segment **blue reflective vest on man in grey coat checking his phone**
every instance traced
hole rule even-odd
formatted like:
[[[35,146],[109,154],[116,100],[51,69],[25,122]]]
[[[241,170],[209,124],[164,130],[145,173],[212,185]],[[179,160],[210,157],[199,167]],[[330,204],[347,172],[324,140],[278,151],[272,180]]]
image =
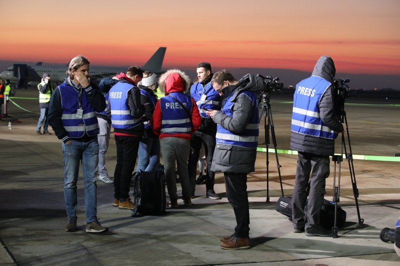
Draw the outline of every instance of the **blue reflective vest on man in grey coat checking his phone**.
[[[224,101],[221,111],[227,116],[233,117],[233,105],[231,101],[234,91]],[[232,146],[240,146],[246,148],[256,148],[258,145],[258,102],[256,95],[251,91],[239,92],[239,95],[247,95],[252,103],[253,109],[251,116],[244,130],[238,134],[232,133],[224,129],[220,125],[216,127],[216,143],[227,144]]]

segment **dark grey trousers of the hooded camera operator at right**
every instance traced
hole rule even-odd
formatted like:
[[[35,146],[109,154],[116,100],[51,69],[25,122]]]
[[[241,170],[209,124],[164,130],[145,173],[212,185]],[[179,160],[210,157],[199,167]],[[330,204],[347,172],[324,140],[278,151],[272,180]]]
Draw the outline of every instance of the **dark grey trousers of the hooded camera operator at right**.
[[[310,178],[311,174],[311,178]],[[329,176],[329,156],[298,153],[296,178],[291,197],[291,215],[294,229],[319,227],[325,194],[325,179]],[[304,214],[306,189],[309,181],[307,213]],[[307,216],[307,223],[304,216]]]

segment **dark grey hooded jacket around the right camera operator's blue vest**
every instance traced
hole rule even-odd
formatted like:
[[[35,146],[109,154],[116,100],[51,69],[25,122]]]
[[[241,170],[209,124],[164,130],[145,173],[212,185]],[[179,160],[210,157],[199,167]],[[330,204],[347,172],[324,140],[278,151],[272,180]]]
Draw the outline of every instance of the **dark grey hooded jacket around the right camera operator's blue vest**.
[[[312,75],[333,83],[335,71],[333,60],[328,56],[321,56],[315,64]],[[319,116],[327,127],[336,132],[343,131],[343,125],[335,108],[332,85],[322,95],[318,108]],[[334,140],[291,132],[290,149],[316,155],[333,155]]]

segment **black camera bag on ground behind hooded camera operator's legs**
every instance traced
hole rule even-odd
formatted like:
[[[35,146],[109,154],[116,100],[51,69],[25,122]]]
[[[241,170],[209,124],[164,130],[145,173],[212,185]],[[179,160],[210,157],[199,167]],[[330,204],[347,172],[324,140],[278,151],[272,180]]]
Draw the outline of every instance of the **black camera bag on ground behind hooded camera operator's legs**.
[[[307,203],[308,199],[305,201],[304,213],[307,213]],[[279,197],[276,202],[275,210],[289,218],[291,221],[291,197]],[[307,222],[307,217],[304,216],[305,223]],[[323,200],[321,208],[321,226],[325,229],[332,229],[334,224],[334,202]],[[337,205],[337,217],[336,225],[338,228],[343,228],[346,222],[346,212]]]

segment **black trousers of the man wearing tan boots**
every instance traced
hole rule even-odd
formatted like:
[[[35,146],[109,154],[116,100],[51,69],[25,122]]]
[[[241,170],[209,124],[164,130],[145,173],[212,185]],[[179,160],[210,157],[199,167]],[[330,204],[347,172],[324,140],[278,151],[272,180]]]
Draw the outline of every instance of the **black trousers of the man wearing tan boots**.
[[[116,165],[114,172],[114,198],[129,198],[129,185],[132,178],[134,164],[140,137],[115,135]]]

